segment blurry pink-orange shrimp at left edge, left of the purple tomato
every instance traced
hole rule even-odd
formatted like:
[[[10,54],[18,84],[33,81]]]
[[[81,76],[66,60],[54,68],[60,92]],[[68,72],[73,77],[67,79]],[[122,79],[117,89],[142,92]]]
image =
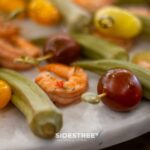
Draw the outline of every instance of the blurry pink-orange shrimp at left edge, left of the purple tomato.
[[[40,54],[38,47],[19,36],[0,38],[0,65],[3,67],[15,70],[29,69],[32,65],[16,63],[14,60],[21,56],[37,57]]]

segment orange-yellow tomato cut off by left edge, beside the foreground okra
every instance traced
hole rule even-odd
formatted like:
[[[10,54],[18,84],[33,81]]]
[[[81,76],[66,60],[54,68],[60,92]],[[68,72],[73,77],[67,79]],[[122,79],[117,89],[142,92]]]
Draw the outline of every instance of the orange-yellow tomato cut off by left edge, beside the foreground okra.
[[[11,99],[11,88],[3,80],[0,80],[0,109],[4,108]]]

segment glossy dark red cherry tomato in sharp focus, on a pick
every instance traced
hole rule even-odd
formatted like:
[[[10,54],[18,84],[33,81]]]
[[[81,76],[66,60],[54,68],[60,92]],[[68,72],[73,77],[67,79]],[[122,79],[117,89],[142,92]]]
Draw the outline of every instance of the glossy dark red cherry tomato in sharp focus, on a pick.
[[[105,93],[102,102],[116,111],[129,111],[137,106],[142,98],[142,88],[137,77],[126,69],[109,70],[101,77],[98,94]]]

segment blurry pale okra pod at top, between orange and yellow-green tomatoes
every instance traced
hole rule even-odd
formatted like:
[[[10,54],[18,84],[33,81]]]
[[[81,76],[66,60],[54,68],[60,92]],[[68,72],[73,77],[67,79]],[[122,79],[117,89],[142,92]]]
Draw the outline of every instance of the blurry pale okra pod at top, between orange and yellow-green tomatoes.
[[[71,0],[50,1],[59,9],[71,31],[83,31],[91,23],[91,15]]]

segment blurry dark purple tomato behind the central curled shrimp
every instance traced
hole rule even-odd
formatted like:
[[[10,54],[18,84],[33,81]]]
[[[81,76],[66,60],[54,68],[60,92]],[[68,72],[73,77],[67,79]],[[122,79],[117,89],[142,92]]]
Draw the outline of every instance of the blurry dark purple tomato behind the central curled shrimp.
[[[52,54],[48,62],[70,64],[80,56],[80,46],[67,34],[49,37],[44,47],[44,54]]]

